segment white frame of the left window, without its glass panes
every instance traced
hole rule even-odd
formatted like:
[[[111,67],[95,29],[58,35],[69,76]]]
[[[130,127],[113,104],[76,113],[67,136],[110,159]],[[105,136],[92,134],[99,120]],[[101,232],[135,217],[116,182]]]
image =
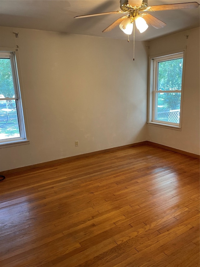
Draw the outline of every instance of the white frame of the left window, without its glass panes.
[[[11,62],[12,79],[13,79],[15,97],[14,98],[6,97],[2,100],[16,100],[17,116],[18,116],[19,131],[20,131],[20,137],[0,140],[0,148],[28,144],[29,143],[28,125],[27,125],[26,112],[24,112],[26,108],[25,108],[25,100],[24,100],[24,95],[23,95],[18,49],[0,47],[0,57],[9,58]]]

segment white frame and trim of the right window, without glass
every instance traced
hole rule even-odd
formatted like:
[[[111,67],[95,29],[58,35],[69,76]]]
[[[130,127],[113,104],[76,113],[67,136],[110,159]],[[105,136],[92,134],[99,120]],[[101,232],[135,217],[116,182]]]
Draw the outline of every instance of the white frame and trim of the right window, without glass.
[[[183,58],[183,73],[182,73],[182,85],[181,90],[175,90],[174,92],[181,93],[181,104],[180,104],[180,120],[179,123],[172,123],[168,121],[158,121],[155,119],[156,115],[156,93],[160,91],[157,90],[157,80],[158,80],[158,63],[162,61],[167,61],[170,59]],[[183,110],[183,88],[184,88],[184,72],[185,72],[185,58],[186,49],[182,51],[175,51],[172,53],[165,53],[159,55],[153,55],[149,57],[149,90],[148,90],[148,124],[158,127],[164,127],[169,129],[181,130],[182,125],[182,110]],[[163,92],[163,91],[162,91]],[[168,92],[168,91],[166,91]],[[172,91],[170,91],[172,92]]]

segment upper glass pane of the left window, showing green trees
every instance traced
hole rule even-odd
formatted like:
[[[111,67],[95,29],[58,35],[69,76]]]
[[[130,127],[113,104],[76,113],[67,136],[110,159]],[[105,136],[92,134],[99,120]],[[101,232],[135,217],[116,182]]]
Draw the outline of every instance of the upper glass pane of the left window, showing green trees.
[[[10,59],[0,59],[0,98],[15,95]]]

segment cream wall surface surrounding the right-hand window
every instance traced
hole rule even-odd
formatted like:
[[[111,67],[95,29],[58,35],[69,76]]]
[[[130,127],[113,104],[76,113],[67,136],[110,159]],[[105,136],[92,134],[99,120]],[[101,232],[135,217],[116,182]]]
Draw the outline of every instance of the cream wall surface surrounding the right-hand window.
[[[199,155],[199,28],[151,41],[149,45],[150,55],[170,53],[186,46],[187,52],[182,131],[148,125],[148,141]]]

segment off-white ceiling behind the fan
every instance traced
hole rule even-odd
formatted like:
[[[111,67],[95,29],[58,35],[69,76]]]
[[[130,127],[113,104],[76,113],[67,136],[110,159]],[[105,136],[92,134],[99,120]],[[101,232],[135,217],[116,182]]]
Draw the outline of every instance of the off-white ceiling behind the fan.
[[[148,6],[188,2],[200,3],[200,0],[148,0]],[[118,26],[110,32],[102,33],[103,29],[124,14],[74,18],[78,15],[117,10],[120,10],[119,0],[0,0],[0,26],[127,39],[127,35]],[[199,7],[148,13],[167,25],[161,29],[149,26],[144,33],[139,33],[136,29],[135,39],[138,41],[199,27]],[[129,39],[133,40],[133,34]]]

